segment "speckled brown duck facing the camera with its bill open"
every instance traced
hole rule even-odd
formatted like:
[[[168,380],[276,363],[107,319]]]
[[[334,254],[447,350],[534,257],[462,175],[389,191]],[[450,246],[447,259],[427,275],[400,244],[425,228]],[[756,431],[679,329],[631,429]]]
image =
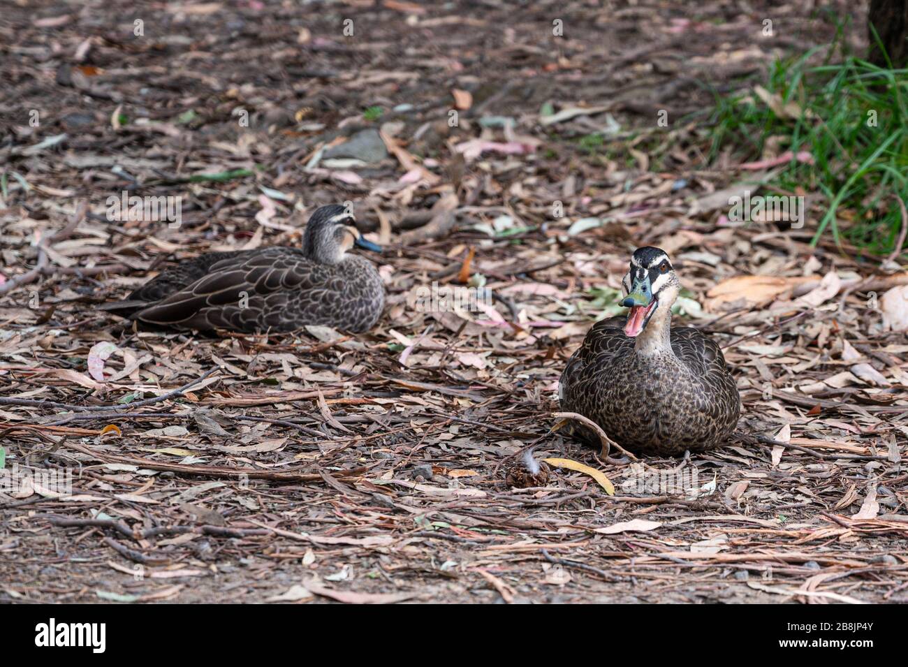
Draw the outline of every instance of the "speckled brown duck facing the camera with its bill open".
[[[622,284],[627,321],[603,320],[587,332],[561,374],[561,409],[640,455],[721,444],[735,430],[741,398],[719,346],[697,329],[671,328],[680,284],[666,252],[636,250]],[[574,432],[598,443],[587,427]]]

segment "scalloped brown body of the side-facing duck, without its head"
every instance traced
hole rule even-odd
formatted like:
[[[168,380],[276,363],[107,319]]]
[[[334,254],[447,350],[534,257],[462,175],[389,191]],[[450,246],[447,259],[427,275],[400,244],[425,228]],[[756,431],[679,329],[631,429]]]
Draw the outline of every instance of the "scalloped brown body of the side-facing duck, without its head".
[[[374,272],[361,258],[319,264],[295,248],[231,255],[133,317],[176,329],[289,331],[320,324],[360,331],[374,324],[383,305],[380,280],[362,280],[369,278],[360,275],[362,262]]]

